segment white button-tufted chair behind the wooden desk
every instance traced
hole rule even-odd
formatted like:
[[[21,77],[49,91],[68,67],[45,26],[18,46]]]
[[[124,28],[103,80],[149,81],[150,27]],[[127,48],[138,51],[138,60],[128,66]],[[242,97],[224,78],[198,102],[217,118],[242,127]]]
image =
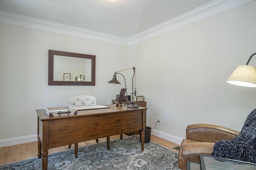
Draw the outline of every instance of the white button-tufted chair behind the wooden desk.
[[[96,98],[94,96],[89,95],[78,95],[78,96],[72,96],[68,99],[68,106],[92,106],[97,105]],[[99,140],[96,139],[96,142],[98,143]],[[71,145],[68,145],[68,148],[70,148]]]

